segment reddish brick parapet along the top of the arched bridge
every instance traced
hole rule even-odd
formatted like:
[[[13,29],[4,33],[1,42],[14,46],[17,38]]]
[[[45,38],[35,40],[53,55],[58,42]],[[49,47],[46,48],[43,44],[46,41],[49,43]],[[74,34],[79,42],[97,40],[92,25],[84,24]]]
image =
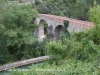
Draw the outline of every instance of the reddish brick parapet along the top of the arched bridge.
[[[40,16],[46,16],[49,19],[56,20],[57,22],[60,22],[60,23],[63,23],[64,20],[68,20],[70,24],[82,27],[84,29],[91,29],[95,26],[92,22],[71,19],[67,17],[55,16],[55,15],[50,15],[50,14],[40,14]]]

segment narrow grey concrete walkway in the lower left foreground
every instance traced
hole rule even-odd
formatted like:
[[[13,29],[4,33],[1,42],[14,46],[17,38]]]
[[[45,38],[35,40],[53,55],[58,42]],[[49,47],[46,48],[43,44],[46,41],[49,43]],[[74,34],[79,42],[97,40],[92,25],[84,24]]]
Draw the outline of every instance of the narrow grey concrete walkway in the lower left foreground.
[[[49,58],[50,58],[49,56],[41,56],[41,57],[37,57],[37,58],[31,58],[31,59],[27,59],[27,60],[14,62],[11,64],[2,65],[2,66],[0,66],[0,71],[6,71],[10,68],[41,62],[41,61],[47,60]]]

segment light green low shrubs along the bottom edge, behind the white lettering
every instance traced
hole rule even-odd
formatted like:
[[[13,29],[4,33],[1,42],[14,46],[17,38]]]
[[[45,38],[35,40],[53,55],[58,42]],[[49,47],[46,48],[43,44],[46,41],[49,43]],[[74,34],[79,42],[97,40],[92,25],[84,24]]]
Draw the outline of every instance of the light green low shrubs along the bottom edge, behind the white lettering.
[[[8,75],[99,75],[99,67],[99,65],[95,66],[95,62],[86,63],[69,59],[63,61],[60,66],[42,63],[30,66],[26,69],[29,71],[15,71]]]

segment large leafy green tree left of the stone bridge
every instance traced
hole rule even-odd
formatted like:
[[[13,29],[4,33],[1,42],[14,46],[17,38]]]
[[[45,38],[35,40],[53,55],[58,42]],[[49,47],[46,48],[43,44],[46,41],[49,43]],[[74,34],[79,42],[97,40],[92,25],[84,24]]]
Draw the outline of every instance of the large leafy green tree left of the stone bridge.
[[[6,12],[0,14],[0,34],[3,35],[0,46],[4,57],[6,61],[29,58],[28,45],[34,43],[33,31],[38,26],[34,18],[38,12],[30,5],[8,5],[5,9]]]

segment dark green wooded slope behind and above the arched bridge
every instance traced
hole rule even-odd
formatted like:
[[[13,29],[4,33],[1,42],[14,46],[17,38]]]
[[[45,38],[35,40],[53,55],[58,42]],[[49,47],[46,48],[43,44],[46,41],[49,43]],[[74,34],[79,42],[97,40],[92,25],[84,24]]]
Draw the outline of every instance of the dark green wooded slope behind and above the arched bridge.
[[[45,0],[44,3],[36,0],[36,8],[39,13],[54,14],[76,18],[80,20],[89,20],[89,9],[94,5],[94,0]],[[100,3],[100,0],[95,0]]]

